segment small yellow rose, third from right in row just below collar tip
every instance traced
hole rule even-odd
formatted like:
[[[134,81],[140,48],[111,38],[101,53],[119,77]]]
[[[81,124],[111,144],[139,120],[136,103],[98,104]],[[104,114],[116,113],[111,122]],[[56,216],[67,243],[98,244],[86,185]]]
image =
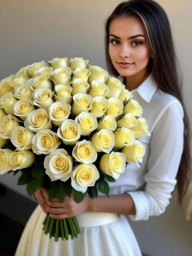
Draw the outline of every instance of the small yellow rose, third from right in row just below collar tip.
[[[93,98],[93,106],[90,112],[96,117],[102,117],[108,108],[108,100],[104,96],[96,96]]]

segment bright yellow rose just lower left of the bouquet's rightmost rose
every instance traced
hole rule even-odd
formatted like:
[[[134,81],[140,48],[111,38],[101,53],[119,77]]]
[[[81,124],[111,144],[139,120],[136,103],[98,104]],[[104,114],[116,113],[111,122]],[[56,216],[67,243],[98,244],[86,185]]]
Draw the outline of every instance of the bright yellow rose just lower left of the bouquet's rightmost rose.
[[[135,141],[134,133],[125,127],[114,131],[115,135],[115,147],[121,148],[123,146],[131,146]]]

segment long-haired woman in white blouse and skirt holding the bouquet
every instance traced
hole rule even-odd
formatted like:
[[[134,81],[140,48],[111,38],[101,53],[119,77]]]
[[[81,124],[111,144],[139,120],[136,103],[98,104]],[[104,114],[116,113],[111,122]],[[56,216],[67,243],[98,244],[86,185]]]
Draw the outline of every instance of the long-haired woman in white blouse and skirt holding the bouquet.
[[[129,163],[110,185],[110,197],[88,196],[81,203],[66,197],[48,201],[43,188],[16,251],[21,255],[141,255],[125,217],[147,220],[160,215],[169,204],[177,183],[179,202],[189,179],[189,126],[176,71],[168,18],[152,0],[119,4],[106,21],[106,59],[143,108],[151,136],[139,139],[146,153],[140,168]],[[114,95],[115,96],[115,95]],[[42,209],[43,211],[42,211]],[[73,240],[54,242],[42,232],[45,213],[56,219],[77,216],[81,234]],[[99,213],[100,212],[100,213]]]

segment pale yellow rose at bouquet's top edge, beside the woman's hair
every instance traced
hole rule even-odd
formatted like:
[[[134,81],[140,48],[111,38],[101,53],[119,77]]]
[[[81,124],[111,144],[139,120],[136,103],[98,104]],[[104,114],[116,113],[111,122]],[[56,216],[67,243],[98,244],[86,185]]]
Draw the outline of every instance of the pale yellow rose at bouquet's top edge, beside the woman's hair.
[[[91,75],[89,76],[89,82],[98,81],[105,83],[108,79],[108,72],[101,67],[90,65],[89,70]]]

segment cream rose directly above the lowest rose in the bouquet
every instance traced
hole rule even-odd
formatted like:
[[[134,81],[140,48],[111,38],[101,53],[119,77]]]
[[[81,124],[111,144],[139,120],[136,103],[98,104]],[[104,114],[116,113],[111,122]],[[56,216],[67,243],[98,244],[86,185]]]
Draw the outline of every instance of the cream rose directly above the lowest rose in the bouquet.
[[[93,163],[97,159],[97,153],[93,143],[85,139],[76,143],[73,148],[72,156],[75,161],[86,164]]]

